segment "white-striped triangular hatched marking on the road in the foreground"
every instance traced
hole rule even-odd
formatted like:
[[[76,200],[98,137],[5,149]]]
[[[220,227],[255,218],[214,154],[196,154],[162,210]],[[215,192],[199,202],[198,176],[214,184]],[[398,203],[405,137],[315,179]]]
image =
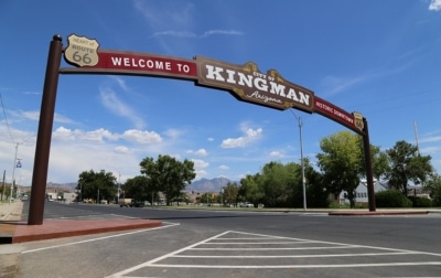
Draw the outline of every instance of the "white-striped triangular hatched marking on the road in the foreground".
[[[259,244],[267,247],[249,247]],[[293,245],[295,247],[290,246],[281,248],[281,244]],[[232,245],[236,246],[230,247]],[[272,245],[272,247],[269,245]],[[223,254],[223,252],[229,250],[234,250],[235,254]],[[353,253],[345,250],[353,250]],[[292,252],[292,254],[287,254],[287,252]],[[421,258],[419,258],[421,261],[415,261],[415,255],[421,256]],[[388,256],[388,259],[392,261],[384,263],[380,259],[381,256]],[[406,256],[409,256],[409,258]],[[439,259],[441,254],[227,231],[152,260],[121,270],[107,278],[130,277],[126,275],[150,267],[185,269],[283,269],[441,266],[441,259],[437,260],[427,258],[426,256]],[[363,259],[363,257],[370,257],[372,259],[378,257],[378,259],[373,263],[361,263],[359,259]],[[305,258],[310,259],[308,260],[310,264],[304,264]],[[333,258],[331,261],[335,263],[320,264],[325,263],[320,260],[323,258]],[[338,258],[341,258],[341,260],[336,261]],[[187,264],[185,264],[185,261],[187,261]],[[261,264],[262,261],[265,261],[265,264]],[[271,264],[271,261],[273,261],[273,264]],[[299,264],[295,264],[297,261]]]

